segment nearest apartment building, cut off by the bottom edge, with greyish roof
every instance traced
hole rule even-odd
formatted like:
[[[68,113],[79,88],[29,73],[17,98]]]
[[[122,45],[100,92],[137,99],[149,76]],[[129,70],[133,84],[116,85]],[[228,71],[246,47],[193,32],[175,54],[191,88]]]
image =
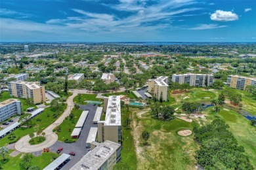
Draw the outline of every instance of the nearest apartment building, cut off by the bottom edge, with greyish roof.
[[[114,165],[121,160],[121,144],[112,141],[96,143],[95,148],[83,156],[71,170],[112,170]]]

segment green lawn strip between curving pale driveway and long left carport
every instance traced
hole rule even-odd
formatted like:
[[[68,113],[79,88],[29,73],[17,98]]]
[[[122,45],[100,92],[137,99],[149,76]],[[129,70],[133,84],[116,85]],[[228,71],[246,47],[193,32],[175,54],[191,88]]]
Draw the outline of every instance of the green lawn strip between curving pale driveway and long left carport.
[[[64,109],[66,109],[66,105],[60,105],[60,114],[62,114]],[[48,127],[50,124],[52,124],[58,118],[58,117],[57,118],[53,117],[54,112],[55,111],[52,110],[50,107],[45,108],[45,110],[41,114],[32,118],[33,126],[31,126],[29,128],[18,127],[18,129],[12,131],[12,133],[14,133],[17,136],[16,139],[14,139],[13,141],[10,141],[8,139],[9,135],[7,135],[7,136],[3,137],[2,139],[0,139],[0,146],[5,146],[6,144],[9,144],[10,142],[17,141],[18,138],[28,135],[30,132],[35,132],[36,129],[45,129],[46,127]],[[60,116],[60,114],[58,116]],[[37,119],[41,120],[41,121],[37,121]]]

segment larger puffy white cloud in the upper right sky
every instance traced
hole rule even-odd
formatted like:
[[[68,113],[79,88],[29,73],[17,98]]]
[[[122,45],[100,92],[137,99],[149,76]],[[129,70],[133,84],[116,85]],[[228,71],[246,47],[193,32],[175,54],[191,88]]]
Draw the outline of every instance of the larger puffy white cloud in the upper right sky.
[[[234,21],[238,20],[238,15],[231,11],[216,10],[211,14],[211,20],[220,22]]]

